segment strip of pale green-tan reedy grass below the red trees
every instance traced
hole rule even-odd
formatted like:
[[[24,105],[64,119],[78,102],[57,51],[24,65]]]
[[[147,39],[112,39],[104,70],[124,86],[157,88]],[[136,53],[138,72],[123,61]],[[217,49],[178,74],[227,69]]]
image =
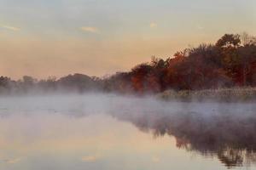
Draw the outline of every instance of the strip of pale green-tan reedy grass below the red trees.
[[[256,101],[256,88],[220,88],[206,90],[166,90],[157,95],[159,99],[181,101],[224,101],[247,102]]]

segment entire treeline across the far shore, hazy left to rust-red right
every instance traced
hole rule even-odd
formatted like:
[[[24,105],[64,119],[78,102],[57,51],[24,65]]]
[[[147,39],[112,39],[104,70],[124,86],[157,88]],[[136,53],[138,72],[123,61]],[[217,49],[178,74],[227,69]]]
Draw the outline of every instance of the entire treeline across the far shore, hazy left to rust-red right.
[[[1,94],[52,92],[159,93],[166,89],[201,90],[209,88],[256,86],[256,37],[247,33],[225,34],[215,44],[186,48],[168,59],[152,57],[148,63],[111,77],[82,74],[37,80],[23,77],[14,81],[0,77]]]

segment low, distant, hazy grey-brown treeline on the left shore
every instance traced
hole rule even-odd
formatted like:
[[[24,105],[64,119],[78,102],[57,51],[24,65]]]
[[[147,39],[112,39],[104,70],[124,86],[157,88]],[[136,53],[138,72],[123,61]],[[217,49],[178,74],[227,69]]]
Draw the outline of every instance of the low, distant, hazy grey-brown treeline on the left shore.
[[[68,75],[56,79],[37,80],[25,76],[14,81],[9,77],[0,77],[0,94],[51,94],[51,93],[85,93],[102,89],[100,79],[83,74]]]

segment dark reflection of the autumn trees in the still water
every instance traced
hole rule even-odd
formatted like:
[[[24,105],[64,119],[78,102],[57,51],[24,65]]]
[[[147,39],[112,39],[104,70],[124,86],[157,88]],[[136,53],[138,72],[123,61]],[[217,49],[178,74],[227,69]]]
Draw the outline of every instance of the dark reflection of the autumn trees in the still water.
[[[202,156],[216,156],[226,167],[256,162],[256,114],[246,113],[113,113],[154,137],[175,137],[177,147]]]

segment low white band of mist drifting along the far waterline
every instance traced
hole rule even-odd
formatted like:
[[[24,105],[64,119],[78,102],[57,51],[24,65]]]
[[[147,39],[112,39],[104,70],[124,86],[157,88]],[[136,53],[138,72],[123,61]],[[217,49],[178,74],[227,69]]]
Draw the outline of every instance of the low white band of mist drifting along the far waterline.
[[[219,103],[218,101],[164,101],[154,95],[119,94],[44,94],[0,97],[0,110],[3,113],[33,113],[42,111],[71,115],[198,112],[203,115],[232,113],[246,116],[256,111],[254,103]]]

